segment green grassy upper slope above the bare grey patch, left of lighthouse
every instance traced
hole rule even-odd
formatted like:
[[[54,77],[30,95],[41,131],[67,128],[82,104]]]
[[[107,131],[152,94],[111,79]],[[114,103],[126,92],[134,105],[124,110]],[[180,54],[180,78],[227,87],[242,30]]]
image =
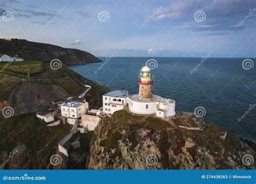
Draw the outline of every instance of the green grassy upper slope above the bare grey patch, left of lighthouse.
[[[0,70],[5,65],[6,62],[0,63]],[[30,80],[28,80],[28,65],[30,67]],[[45,72],[48,72],[49,74],[46,77],[41,77],[41,75],[43,75]],[[4,69],[3,73],[8,74],[8,76],[1,76],[0,73],[0,101],[8,100],[12,89],[22,83],[54,84],[57,86],[61,86],[68,92],[70,96],[78,95],[81,93],[80,84],[74,81],[71,77],[75,77],[82,83],[92,86],[92,89],[86,95],[87,101],[95,99],[96,96],[101,96],[109,91],[109,89],[107,89],[106,87],[101,86],[91,80],[85,79],[84,77],[80,76],[79,74],[65,66],[62,66],[62,68],[58,70],[52,70],[49,67],[48,62],[12,62],[10,63],[10,66]],[[11,75],[15,76],[16,78],[11,77]],[[33,76],[37,76],[37,79],[33,79]],[[99,104],[98,101],[96,103]]]

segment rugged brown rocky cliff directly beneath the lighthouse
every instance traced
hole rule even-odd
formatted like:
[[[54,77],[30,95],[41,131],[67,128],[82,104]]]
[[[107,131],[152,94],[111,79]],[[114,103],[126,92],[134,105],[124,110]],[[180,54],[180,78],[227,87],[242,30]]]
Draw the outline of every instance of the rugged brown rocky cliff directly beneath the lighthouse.
[[[155,117],[125,110],[104,118],[92,140],[91,169],[255,169],[243,163],[255,158],[247,144],[207,123],[204,131],[174,128]]]

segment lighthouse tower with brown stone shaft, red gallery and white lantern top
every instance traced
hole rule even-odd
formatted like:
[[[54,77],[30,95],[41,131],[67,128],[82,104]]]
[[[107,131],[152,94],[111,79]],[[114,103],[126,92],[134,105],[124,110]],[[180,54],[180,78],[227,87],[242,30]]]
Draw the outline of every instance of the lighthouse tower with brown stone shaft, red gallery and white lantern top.
[[[150,68],[143,66],[139,73],[139,98],[151,98],[152,97],[152,84]]]

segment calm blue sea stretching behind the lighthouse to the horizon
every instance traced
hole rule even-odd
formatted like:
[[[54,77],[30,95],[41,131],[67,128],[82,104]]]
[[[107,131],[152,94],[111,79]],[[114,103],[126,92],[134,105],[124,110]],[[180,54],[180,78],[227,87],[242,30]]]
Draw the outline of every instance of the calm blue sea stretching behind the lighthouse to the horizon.
[[[149,59],[114,57],[101,69],[103,62],[70,68],[110,90],[122,88],[134,94],[139,89],[139,70]],[[177,110],[193,112],[204,107],[206,120],[256,142],[256,107],[243,116],[250,105],[256,104],[256,67],[243,69],[245,58],[208,58],[205,62],[201,58],[153,59],[158,64],[151,70],[154,94],[175,100]],[[191,72],[200,62],[202,65]]]

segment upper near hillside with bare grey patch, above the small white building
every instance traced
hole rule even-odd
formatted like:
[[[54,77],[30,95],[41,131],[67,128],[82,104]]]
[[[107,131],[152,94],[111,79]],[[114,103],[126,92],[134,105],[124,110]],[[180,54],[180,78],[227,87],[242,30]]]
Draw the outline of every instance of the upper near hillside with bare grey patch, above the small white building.
[[[5,65],[0,63],[0,70],[5,68],[0,72],[0,101],[7,101],[15,115],[37,112],[52,101],[80,95],[85,90],[85,84],[92,87],[86,94],[86,101],[90,103],[90,108],[98,109],[102,105],[102,95],[109,91],[65,66],[53,70],[49,62],[39,61]]]

